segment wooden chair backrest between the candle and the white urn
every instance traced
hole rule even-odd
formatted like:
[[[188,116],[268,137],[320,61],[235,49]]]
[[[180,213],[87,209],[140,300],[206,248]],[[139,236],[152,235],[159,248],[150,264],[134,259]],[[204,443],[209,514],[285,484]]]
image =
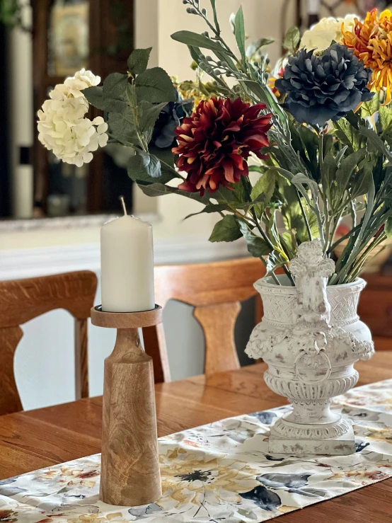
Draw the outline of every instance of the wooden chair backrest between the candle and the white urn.
[[[155,267],[156,303],[165,306],[175,299],[195,307],[193,314],[204,331],[207,376],[239,367],[234,327],[240,301],[257,294],[253,283],[264,275],[265,267],[256,258]],[[163,327],[144,328],[143,338],[154,361],[155,381],[170,381]]]

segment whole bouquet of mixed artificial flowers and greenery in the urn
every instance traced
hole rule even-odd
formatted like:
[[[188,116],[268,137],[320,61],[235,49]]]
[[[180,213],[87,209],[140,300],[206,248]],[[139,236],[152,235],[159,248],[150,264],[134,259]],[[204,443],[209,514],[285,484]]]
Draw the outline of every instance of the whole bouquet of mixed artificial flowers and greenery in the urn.
[[[200,0],[183,4],[207,30],[172,38],[188,45],[208,88],[173,84],[148,69],[151,49],[135,50],[102,86],[88,71],[56,86],[39,113],[40,141],[77,165],[107,141],[132,148],[129,176],[146,195],[182,195],[220,214],[210,241],[245,238],[277,285],[278,268],[294,285],[289,262],[314,238],[325,258],[345,245],[329,285],[352,282],[392,235],[391,11],[325,19],[302,40],[292,28],[274,78],[268,41],[246,47],[242,8],[231,17],[233,50],[215,0],[210,13]],[[200,95],[193,110],[181,91]],[[89,104],[105,122],[88,120]],[[350,226],[337,238],[343,218]]]

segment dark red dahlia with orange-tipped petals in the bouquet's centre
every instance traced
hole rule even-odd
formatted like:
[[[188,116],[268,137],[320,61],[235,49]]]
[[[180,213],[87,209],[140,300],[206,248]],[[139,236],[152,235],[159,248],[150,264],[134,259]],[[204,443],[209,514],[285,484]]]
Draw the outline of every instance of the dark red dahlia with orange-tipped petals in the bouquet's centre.
[[[241,98],[202,100],[175,130],[178,147],[172,151],[180,156],[180,171],[188,173],[178,188],[203,195],[206,189],[230,188],[229,183],[248,176],[250,153],[265,158],[260,149],[268,145],[266,133],[272,125],[271,114],[260,115],[265,107],[264,103],[243,103]]]

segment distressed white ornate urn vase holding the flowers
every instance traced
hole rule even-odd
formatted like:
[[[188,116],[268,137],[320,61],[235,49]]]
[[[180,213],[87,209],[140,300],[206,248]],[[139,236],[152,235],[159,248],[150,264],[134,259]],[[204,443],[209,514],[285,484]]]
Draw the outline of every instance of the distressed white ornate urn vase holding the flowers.
[[[255,282],[264,316],[246,347],[250,357],[268,364],[270,389],[292,403],[292,411],[272,426],[269,452],[352,454],[352,423],[330,403],[357,384],[353,364],[374,352],[369,328],[357,316],[366,283],[359,278],[327,287],[335,264],[323,257],[318,240],[299,246],[290,269],[295,287],[286,276],[279,276],[280,286],[270,278]]]

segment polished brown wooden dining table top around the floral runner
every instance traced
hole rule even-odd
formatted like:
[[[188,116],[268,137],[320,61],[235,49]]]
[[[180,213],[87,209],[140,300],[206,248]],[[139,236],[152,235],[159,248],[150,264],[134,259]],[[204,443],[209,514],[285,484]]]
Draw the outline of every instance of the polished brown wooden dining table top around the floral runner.
[[[359,385],[392,378],[392,350],[358,362]],[[287,403],[264,363],[156,385],[158,436]],[[102,398],[0,416],[0,480],[100,452]],[[392,478],[279,517],[279,523],[392,522]]]

